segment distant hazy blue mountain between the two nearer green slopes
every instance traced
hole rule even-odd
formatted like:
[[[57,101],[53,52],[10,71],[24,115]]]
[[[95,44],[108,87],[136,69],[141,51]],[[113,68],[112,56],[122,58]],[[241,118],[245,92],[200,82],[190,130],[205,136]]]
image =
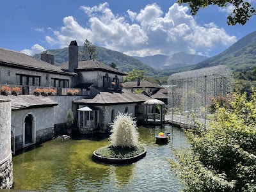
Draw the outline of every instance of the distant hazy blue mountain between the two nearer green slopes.
[[[134,56],[133,58],[142,61],[150,67],[154,67],[159,70],[165,70],[184,68],[190,65],[195,65],[196,63],[200,63],[201,61],[204,61],[209,57],[196,54],[186,54],[185,52],[178,52],[171,56],[157,54],[154,56],[145,57]]]

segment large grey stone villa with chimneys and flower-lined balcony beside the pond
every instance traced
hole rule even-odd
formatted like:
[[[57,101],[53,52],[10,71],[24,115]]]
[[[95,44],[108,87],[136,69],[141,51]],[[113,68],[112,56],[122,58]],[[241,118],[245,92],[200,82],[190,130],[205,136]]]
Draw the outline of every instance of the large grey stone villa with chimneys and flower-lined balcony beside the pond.
[[[148,97],[123,90],[123,72],[95,60],[79,61],[76,41],[68,50],[68,63],[56,66],[49,51],[38,60],[0,49],[0,88],[20,88],[18,96],[3,90],[0,95],[2,100],[12,100],[13,150],[65,133],[68,109],[81,133],[108,132],[118,112],[140,120],[140,105]],[[34,95],[38,89],[48,97]]]

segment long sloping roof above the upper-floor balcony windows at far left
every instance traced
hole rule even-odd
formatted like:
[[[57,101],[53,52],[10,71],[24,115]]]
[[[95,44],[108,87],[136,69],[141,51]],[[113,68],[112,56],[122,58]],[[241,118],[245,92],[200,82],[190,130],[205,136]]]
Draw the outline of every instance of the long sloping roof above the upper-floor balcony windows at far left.
[[[60,69],[60,67],[57,67],[56,65],[52,65],[42,60],[38,60],[36,58],[28,56],[27,54],[0,48],[0,65],[4,64],[13,67],[22,67],[41,71],[43,70],[45,72],[54,72],[67,75],[75,74],[70,72],[64,72]]]

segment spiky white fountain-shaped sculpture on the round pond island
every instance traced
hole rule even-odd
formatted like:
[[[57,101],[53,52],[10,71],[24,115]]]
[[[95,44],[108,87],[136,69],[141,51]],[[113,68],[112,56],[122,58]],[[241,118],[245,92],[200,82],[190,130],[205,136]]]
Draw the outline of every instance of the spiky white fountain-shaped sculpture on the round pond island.
[[[111,146],[132,148],[139,145],[138,128],[131,115],[119,113],[110,127],[112,128],[109,137]]]

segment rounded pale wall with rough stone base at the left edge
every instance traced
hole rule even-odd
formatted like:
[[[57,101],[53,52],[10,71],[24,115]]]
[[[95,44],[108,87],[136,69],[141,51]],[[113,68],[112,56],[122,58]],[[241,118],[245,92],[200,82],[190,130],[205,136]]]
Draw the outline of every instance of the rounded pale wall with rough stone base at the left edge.
[[[13,184],[11,150],[11,102],[0,100],[0,189]]]

